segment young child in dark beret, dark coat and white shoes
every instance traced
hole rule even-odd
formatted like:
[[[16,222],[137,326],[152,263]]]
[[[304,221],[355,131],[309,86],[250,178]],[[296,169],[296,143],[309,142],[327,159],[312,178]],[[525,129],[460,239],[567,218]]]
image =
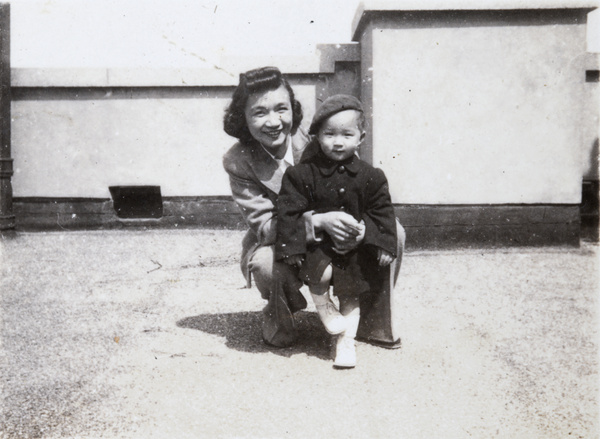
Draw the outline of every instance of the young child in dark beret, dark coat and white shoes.
[[[310,126],[312,142],[319,148],[310,157],[287,169],[277,200],[275,257],[300,267],[300,278],[309,286],[319,318],[336,340],[334,367],[356,365],[354,338],[360,321],[360,296],[379,291],[396,257],[396,217],[387,180],[357,156],[365,138],[365,118],[353,96],[328,98]],[[323,233],[307,246],[303,214],[344,212],[344,233],[355,243]],[[340,311],[329,297],[329,286],[340,302]]]

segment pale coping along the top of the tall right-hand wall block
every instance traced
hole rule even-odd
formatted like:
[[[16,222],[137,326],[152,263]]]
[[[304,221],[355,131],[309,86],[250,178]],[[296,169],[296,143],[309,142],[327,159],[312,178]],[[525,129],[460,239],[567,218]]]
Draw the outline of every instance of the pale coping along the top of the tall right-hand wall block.
[[[504,11],[542,9],[589,9],[600,6],[599,0],[363,0],[352,20],[352,40],[358,41],[363,21],[373,12],[417,11]]]

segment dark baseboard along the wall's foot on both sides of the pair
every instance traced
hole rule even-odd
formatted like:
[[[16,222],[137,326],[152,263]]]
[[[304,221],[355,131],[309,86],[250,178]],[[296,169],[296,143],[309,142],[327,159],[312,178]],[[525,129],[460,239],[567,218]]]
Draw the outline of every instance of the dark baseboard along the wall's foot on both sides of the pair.
[[[246,226],[231,197],[163,197],[163,216],[120,219],[105,198],[14,198],[16,229],[224,228]],[[407,249],[577,246],[580,206],[396,205]]]

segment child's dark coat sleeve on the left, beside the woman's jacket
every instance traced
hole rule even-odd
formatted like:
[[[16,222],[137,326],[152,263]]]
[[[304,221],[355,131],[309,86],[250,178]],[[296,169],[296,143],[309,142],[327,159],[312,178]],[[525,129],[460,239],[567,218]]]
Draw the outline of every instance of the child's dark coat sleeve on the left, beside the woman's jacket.
[[[299,167],[288,168],[277,199],[277,242],[275,259],[306,253],[306,213],[309,195]]]

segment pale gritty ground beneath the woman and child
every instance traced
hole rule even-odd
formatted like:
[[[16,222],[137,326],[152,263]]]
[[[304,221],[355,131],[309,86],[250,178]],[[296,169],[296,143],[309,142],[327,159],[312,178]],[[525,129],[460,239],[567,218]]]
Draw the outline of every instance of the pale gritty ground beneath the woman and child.
[[[314,308],[261,342],[241,237],[0,241],[0,437],[599,437],[596,244],[409,253],[402,348],[339,371]]]

